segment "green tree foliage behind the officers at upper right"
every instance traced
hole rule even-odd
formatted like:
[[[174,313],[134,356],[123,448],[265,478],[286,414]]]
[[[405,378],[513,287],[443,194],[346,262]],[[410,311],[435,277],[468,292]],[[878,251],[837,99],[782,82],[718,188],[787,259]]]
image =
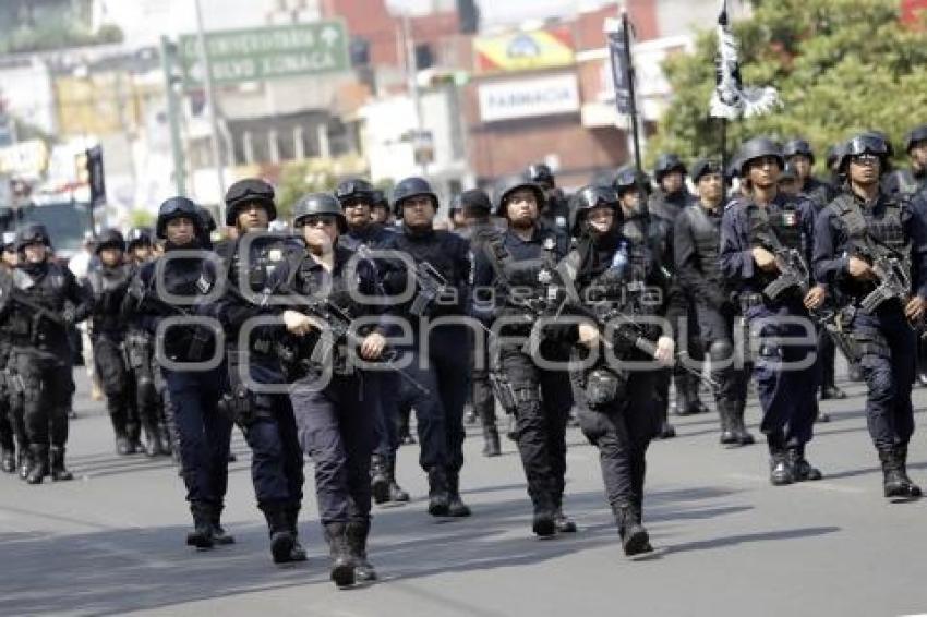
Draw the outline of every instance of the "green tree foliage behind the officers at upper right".
[[[746,85],[772,85],[783,106],[727,124],[729,156],[744,140],[803,136],[823,154],[856,132],[880,130],[898,147],[913,125],[927,122],[925,34],[899,21],[890,0],[754,0],[750,19],[733,24]],[[922,14],[922,16],[924,16]],[[713,24],[712,24],[713,25]],[[707,24],[708,27],[712,25]],[[648,147],[681,156],[719,156],[721,123],[708,118],[714,88],[713,27],[693,55],[664,63],[674,99]],[[823,156],[818,156],[818,166]]]

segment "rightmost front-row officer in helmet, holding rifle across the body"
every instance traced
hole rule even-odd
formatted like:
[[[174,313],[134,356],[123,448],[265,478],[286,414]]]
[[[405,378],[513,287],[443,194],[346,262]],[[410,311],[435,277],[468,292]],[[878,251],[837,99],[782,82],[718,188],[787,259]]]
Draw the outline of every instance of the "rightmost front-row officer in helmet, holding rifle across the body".
[[[888,167],[889,148],[881,137],[862,134],[846,143],[839,162],[844,191],[817,221],[815,270],[847,302],[841,325],[850,331],[850,351],[868,387],[866,415],[884,495],[916,498],[920,487],[906,470],[916,353],[908,322],[922,318],[927,302],[927,229],[923,211],[882,191]],[[883,277],[892,274],[910,289],[880,293],[888,282]]]

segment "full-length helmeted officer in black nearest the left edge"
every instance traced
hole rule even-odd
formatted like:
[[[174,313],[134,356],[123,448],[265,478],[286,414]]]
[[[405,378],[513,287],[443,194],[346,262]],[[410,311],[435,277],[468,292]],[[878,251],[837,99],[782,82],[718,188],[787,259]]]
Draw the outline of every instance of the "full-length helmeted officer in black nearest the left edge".
[[[68,327],[89,315],[89,292],[51,257],[41,225],[16,234],[19,263],[0,297],[0,324],[12,335],[12,353],[22,379],[24,422],[29,440],[26,482],[71,480],[64,468],[68,407],[74,383]]]

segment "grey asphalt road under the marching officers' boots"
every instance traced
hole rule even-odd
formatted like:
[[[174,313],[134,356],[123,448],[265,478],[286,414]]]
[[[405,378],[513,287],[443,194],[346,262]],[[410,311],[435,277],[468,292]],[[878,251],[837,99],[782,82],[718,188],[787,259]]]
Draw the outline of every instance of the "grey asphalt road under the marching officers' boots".
[[[469,427],[465,499],[474,516],[425,513],[417,446],[399,453],[404,507],[376,508],[370,546],[382,580],[338,591],[314,498],[301,517],[305,564],[270,561],[250,455],[233,449],[226,528],[238,543],[195,553],[183,487],[166,459],[113,453],[103,403],[80,391],[69,462],[77,480],[27,486],[0,477],[0,615],[914,615],[927,613],[927,500],[892,505],[863,413],[863,385],[823,407],[809,459],[826,479],[767,481],[765,446],[726,450],[714,414],[676,419],[678,437],[649,453],[646,524],[657,552],[630,560],[604,500],[597,450],[570,430],[565,507],[575,535],[539,541],[511,443],[485,459]],[[925,420],[927,390],[915,391]],[[751,425],[759,412],[751,404]],[[927,438],[910,469],[927,485]],[[311,467],[306,495],[313,495]]]

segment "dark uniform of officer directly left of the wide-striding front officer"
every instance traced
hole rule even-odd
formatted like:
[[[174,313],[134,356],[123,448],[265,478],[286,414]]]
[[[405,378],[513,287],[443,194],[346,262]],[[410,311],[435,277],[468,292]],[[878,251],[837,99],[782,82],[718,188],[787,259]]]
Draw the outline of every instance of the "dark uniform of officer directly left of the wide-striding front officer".
[[[526,310],[511,298],[513,288],[542,289],[539,281],[542,270],[553,271],[566,255],[569,239],[566,234],[546,227],[534,229],[525,240],[514,231],[506,231],[499,239],[491,241],[477,253],[474,266],[474,290],[495,287],[501,294],[501,308],[493,315],[487,305],[474,298],[474,313],[486,323],[492,317],[516,317]],[[481,308],[481,306],[483,306]],[[515,394],[515,439],[521,455],[521,464],[528,480],[528,495],[534,506],[535,533],[538,516],[557,516],[562,509],[566,474],[566,425],[573,407],[569,373],[540,366],[522,349],[523,339],[531,332],[531,320],[503,326],[499,335],[514,338],[503,340],[498,349],[498,361],[503,373],[511,383]],[[576,341],[575,327],[561,340],[561,332],[547,327],[543,332],[540,353],[544,360],[566,363],[569,346]],[[571,337],[571,338],[570,338]],[[519,341],[518,339],[522,339]],[[542,530],[543,531],[543,530]]]

